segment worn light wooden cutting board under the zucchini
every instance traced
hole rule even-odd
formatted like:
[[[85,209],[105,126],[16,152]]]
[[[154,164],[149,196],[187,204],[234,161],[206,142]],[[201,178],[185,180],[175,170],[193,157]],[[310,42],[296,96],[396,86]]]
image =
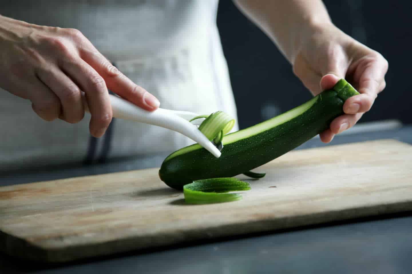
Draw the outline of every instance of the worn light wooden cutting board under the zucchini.
[[[185,205],[158,168],[2,187],[0,248],[68,261],[412,210],[412,146],[395,140],[294,150],[258,170],[243,200],[213,205]]]

